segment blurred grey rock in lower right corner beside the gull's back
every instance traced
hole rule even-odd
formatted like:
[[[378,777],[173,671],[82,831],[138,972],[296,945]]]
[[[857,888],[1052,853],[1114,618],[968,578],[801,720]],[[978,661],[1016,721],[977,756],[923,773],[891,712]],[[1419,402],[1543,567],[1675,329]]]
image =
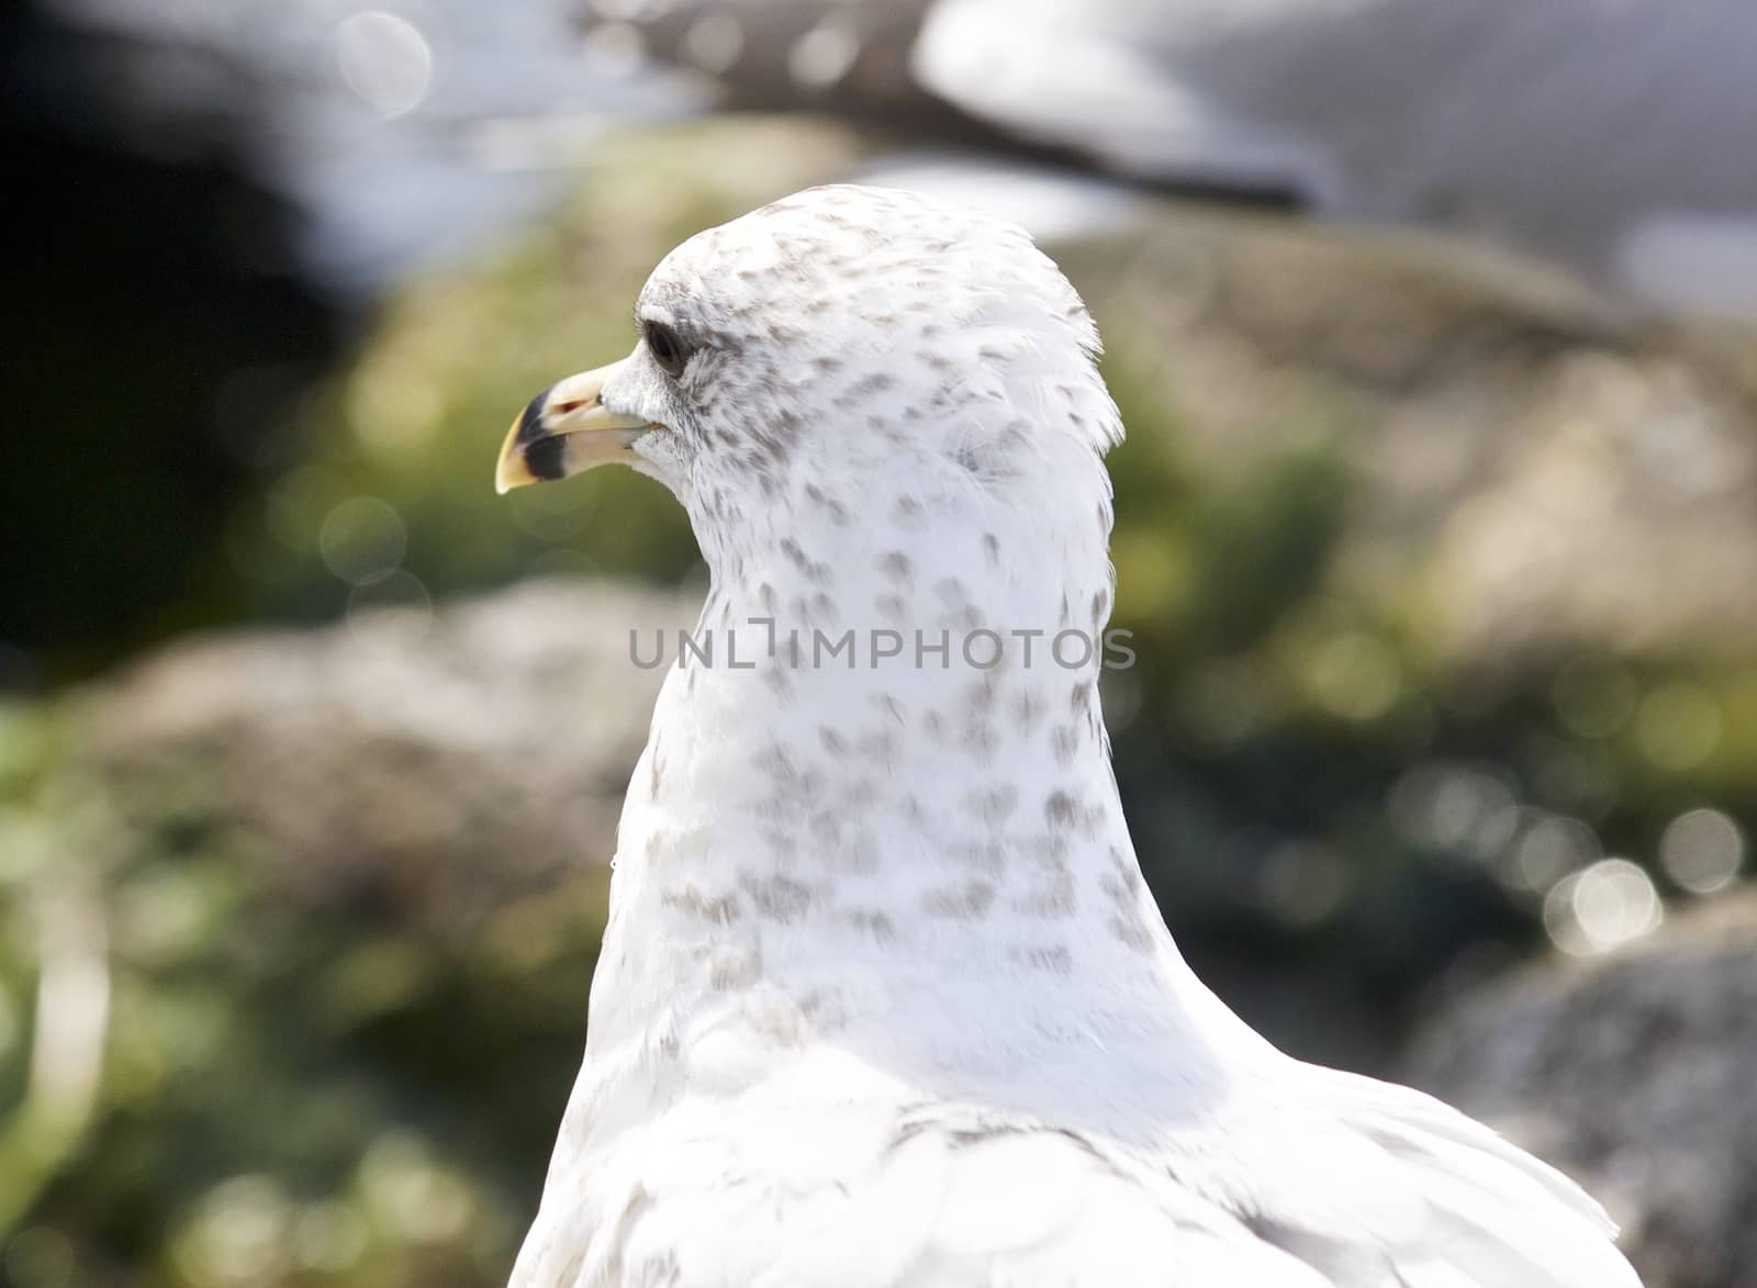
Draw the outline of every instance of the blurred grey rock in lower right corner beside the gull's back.
[[[1465,996],[1427,1024],[1407,1074],[1578,1177],[1648,1288],[1750,1283],[1757,891]]]

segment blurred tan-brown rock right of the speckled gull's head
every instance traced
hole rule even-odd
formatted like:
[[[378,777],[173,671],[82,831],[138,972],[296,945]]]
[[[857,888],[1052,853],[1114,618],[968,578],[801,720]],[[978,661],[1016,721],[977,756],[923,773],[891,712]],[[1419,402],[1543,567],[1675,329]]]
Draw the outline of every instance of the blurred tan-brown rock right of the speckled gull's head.
[[[1175,416],[1202,474],[1334,445],[1355,483],[1337,589],[1446,664],[1757,629],[1750,330],[1638,327],[1420,235],[1174,206],[1154,225],[1058,251],[1140,381],[1123,392]]]

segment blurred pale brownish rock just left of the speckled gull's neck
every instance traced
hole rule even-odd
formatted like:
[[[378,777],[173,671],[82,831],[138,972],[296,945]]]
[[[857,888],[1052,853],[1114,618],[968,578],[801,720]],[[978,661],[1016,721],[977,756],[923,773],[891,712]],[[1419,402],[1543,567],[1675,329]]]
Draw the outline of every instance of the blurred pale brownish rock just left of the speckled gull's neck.
[[[654,629],[692,622],[685,594],[557,580],[193,638],[90,691],[74,738],[134,828],[183,801],[246,833],[276,884],[388,882],[455,930],[608,865],[664,677],[629,633],[650,657]]]

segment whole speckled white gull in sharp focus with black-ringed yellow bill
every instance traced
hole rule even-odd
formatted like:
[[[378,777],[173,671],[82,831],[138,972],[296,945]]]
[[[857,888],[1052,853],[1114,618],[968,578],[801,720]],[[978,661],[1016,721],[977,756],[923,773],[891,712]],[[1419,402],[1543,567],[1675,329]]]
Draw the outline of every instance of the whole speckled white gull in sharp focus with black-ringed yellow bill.
[[[617,836],[520,1288],[1627,1288],[1569,1179],[1189,970],[1098,705],[1098,332],[1017,227],[828,186],[703,232],[497,487],[624,462],[712,580]]]

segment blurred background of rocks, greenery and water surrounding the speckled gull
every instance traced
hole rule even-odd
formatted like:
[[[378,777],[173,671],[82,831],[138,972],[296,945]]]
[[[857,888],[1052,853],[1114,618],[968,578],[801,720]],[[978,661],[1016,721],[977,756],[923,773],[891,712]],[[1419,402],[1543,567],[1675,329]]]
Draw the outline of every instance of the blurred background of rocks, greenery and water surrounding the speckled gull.
[[[492,459],[676,241],[864,177],[1105,334],[1105,708],[1200,973],[1757,1283],[1757,11],[1249,9],[5,14],[0,1281],[504,1281],[627,633],[705,573]]]

